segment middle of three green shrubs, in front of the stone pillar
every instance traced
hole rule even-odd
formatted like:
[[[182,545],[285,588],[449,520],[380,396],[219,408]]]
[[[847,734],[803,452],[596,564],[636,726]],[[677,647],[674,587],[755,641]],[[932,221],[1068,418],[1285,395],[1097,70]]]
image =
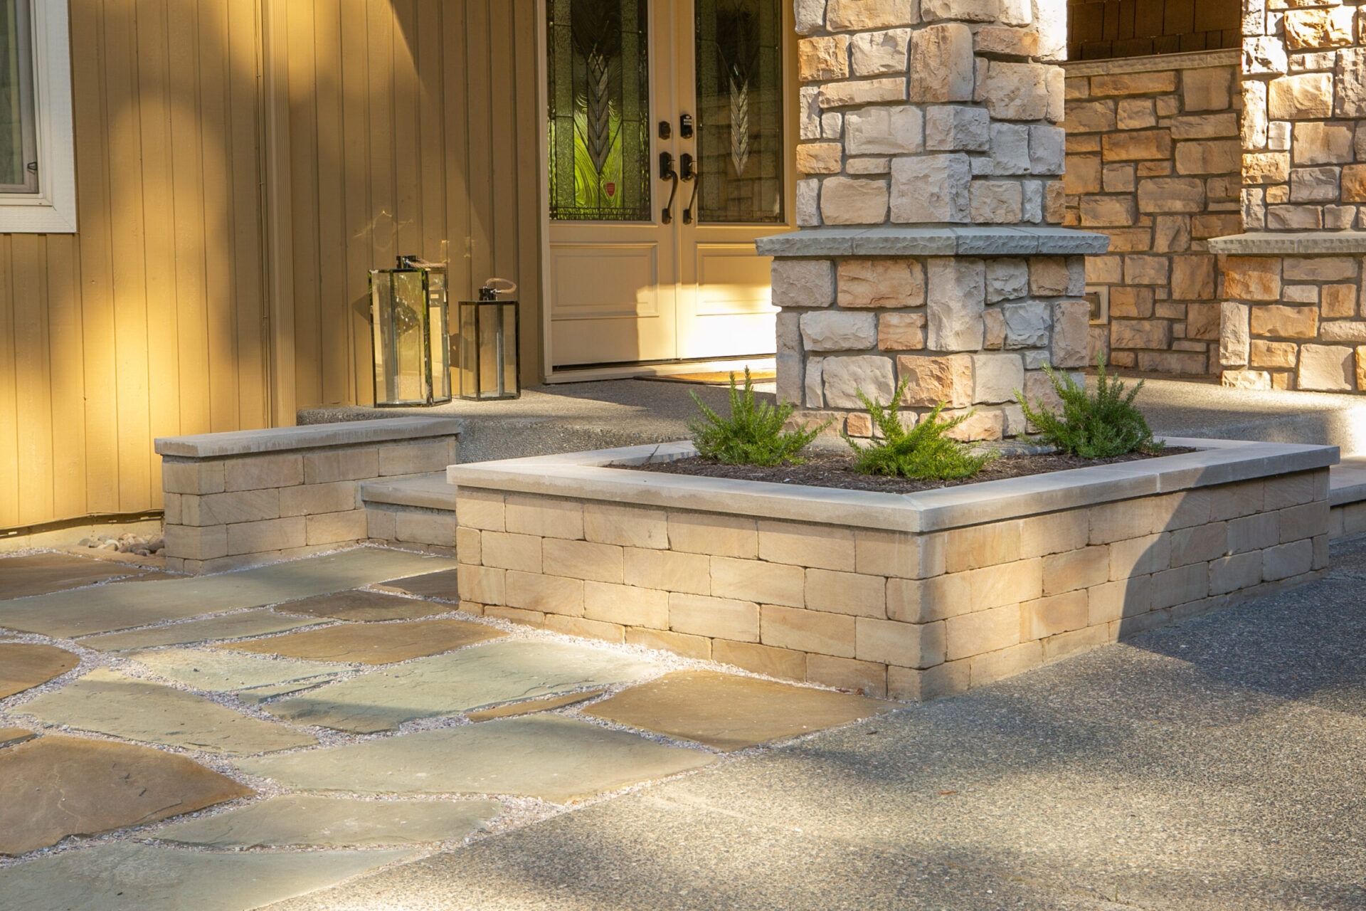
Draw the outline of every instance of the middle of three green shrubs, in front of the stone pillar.
[[[859,389],[858,397],[867,408],[869,417],[873,418],[873,426],[881,433],[881,438],[874,437],[872,443],[856,443],[848,434],[844,436],[844,441],[854,449],[854,468],[856,471],[918,481],[956,481],[971,478],[982,470],[982,466],[996,458],[994,452],[974,453],[973,447],[967,443],[944,436],[967,421],[973,412],[940,421],[940,411],[944,410],[943,402],[907,430],[897,414],[906,384],[907,381],[903,380],[896,387],[896,393],[892,396],[891,404],[887,406],[870,400]]]

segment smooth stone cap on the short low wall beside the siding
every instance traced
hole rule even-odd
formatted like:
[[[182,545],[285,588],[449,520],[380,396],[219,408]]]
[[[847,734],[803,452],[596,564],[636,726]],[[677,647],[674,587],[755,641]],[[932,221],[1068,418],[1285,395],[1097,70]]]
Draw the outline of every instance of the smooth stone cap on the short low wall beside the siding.
[[[156,452],[163,456],[186,459],[216,459],[224,456],[317,449],[322,447],[354,447],[372,443],[421,440],[425,437],[454,437],[464,429],[459,418],[382,418],[378,421],[339,421],[313,423],[302,428],[266,428],[264,430],[234,430],[231,433],[202,433],[190,437],[161,437]]]

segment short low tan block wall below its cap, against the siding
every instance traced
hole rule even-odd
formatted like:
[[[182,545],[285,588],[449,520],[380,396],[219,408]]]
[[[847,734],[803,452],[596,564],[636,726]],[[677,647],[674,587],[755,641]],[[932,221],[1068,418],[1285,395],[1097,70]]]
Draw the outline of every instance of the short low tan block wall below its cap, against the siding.
[[[372,538],[361,482],[441,471],[455,462],[455,449],[456,438],[447,436],[217,458],[163,455],[167,568],[217,572]]]

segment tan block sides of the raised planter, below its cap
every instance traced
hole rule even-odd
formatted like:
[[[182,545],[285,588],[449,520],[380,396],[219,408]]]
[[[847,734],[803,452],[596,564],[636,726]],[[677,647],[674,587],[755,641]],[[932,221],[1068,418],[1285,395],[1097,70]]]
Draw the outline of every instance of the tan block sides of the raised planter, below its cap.
[[[1299,585],[1328,471],[930,534],[460,488],[462,609],[922,699]]]

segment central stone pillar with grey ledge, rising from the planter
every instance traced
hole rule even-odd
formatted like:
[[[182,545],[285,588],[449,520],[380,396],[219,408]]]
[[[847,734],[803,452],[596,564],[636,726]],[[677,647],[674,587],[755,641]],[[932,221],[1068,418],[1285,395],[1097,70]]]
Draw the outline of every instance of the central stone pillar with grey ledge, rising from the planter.
[[[1015,389],[1086,363],[1085,254],[1063,219],[1064,0],[795,0],[799,229],[775,257],[779,395],[851,436],[858,400],[977,408],[1023,430]],[[1045,48],[1046,46],[1046,48]]]

